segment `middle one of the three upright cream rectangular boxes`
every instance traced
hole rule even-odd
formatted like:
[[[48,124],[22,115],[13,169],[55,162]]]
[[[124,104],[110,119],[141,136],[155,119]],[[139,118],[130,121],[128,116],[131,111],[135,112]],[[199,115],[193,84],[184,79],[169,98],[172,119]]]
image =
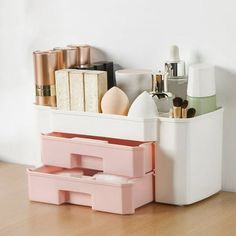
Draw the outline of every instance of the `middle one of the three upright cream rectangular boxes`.
[[[72,111],[85,111],[84,71],[71,70],[69,77],[70,109]]]

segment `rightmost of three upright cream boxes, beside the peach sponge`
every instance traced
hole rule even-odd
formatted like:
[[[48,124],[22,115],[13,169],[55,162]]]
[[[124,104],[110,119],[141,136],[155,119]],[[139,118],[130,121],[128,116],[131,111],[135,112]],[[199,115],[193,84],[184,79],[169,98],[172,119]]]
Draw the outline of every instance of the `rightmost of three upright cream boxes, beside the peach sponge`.
[[[106,71],[84,73],[85,111],[101,112],[101,100],[107,91]]]

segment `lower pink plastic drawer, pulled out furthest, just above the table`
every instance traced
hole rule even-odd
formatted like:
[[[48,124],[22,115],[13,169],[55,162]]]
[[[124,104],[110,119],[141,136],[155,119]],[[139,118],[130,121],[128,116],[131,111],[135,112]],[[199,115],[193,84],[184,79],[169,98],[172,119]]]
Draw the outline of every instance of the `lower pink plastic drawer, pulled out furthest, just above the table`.
[[[72,203],[93,210],[133,214],[153,201],[152,172],[142,178],[128,178],[97,171],[43,166],[28,169],[29,198],[52,204]]]

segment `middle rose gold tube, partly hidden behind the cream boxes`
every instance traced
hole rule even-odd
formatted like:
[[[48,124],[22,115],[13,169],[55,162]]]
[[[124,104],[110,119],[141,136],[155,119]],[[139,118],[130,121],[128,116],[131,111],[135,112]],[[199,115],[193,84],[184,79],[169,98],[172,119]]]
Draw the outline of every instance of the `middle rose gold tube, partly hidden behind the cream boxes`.
[[[69,69],[79,65],[79,54],[76,48],[57,47],[53,50],[57,53],[58,69]]]

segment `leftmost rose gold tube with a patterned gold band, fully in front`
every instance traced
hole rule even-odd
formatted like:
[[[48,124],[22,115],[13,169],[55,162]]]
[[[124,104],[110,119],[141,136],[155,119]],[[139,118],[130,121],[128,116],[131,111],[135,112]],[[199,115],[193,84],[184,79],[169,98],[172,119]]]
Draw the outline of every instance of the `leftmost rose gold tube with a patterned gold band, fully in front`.
[[[55,75],[57,69],[57,54],[55,51],[35,51],[34,71],[36,104],[56,106]]]

